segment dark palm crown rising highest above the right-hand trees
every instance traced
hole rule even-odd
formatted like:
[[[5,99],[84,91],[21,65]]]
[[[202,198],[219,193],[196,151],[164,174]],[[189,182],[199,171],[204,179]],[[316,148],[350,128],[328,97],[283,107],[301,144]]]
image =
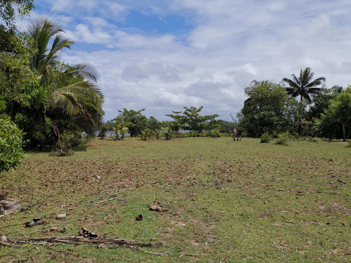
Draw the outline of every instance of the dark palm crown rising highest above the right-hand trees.
[[[314,96],[318,95],[321,88],[317,87],[325,82],[325,77],[319,77],[312,81],[313,72],[311,68],[307,67],[305,70],[300,70],[300,76],[296,77],[294,74],[291,75],[291,79],[284,78],[282,81],[286,82],[290,87],[285,88],[286,93],[292,97],[300,96],[300,100],[307,100],[308,104],[312,103]]]

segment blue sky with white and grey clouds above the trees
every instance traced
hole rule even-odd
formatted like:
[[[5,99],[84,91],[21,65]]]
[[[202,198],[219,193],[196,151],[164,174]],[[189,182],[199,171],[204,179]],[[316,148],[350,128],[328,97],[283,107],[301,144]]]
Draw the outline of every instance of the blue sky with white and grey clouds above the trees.
[[[34,0],[76,45],[61,59],[91,62],[105,121],[119,109],[147,117],[184,106],[231,120],[254,79],[280,82],[310,67],[326,85],[351,84],[350,0]]]

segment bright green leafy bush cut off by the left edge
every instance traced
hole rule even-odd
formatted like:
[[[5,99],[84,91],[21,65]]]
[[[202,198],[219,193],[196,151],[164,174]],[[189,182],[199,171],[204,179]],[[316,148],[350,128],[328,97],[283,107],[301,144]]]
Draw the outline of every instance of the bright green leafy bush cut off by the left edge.
[[[0,116],[0,173],[15,169],[24,158],[21,148],[24,134],[10,118]]]

